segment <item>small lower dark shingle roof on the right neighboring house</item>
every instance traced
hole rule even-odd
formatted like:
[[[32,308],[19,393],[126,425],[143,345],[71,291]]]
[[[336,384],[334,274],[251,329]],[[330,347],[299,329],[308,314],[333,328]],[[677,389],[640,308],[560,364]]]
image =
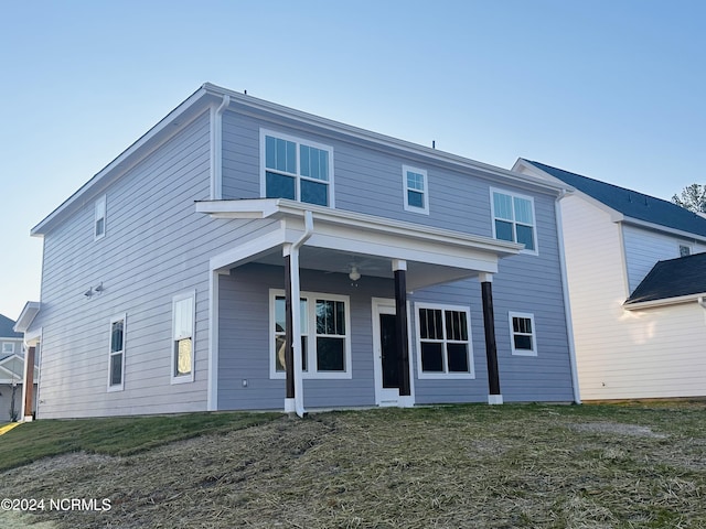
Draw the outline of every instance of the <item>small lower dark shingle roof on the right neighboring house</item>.
[[[706,252],[659,261],[624,305],[699,295],[706,295]]]

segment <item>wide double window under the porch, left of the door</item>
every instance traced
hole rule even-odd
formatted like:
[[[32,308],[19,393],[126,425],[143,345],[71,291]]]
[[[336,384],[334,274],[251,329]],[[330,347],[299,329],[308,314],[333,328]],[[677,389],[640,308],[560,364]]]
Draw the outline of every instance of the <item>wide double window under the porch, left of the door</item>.
[[[304,378],[351,378],[349,298],[302,292],[301,365]],[[270,291],[270,378],[285,378],[285,293]]]

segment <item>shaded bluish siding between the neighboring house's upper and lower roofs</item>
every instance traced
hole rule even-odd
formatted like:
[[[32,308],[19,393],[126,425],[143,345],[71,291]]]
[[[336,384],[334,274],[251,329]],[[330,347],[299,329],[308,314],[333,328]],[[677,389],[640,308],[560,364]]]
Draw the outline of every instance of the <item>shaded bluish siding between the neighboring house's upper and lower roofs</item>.
[[[676,235],[661,234],[625,224],[622,225],[622,231],[631,293],[657,261],[680,257],[680,246],[688,246],[692,253],[706,251],[706,245],[703,242],[696,242],[693,239],[685,239]]]

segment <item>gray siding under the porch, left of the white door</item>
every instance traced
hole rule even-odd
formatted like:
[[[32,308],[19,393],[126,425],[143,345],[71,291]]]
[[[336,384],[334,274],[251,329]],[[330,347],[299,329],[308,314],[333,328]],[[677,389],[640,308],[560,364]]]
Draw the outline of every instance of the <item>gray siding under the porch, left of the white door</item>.
[[[269,289],[284,288],[281,267],[246,264],[221,277],[218,409],[284,409],[285,380],[269,378]],[[351,311],[352,378],[304,379],[304,406],[374,406],[371,298],[394,298],[393,281],[366,278],[351,287],[344,274],[302,270],[301,290],[347,295]]]

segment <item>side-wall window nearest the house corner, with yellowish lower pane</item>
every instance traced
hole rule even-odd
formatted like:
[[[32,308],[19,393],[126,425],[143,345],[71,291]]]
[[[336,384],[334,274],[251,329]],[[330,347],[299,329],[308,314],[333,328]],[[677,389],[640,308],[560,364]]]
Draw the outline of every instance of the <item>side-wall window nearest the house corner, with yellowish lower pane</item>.
[[[194,310],[196,293],[172,301],[172,384],[194,380]]]

